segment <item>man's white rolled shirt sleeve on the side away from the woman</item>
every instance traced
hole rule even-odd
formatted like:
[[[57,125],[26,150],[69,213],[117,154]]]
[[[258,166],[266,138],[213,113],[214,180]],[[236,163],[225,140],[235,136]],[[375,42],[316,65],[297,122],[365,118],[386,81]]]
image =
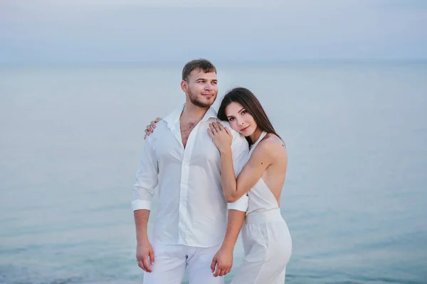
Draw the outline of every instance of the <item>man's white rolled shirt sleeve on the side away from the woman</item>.
[[[152,148],[152,137],[147,137],[135,177],[132,200],[133,211],[139,209],[151,210],[154,190],[159,183],[158,174],[159,167],[156,154]]]

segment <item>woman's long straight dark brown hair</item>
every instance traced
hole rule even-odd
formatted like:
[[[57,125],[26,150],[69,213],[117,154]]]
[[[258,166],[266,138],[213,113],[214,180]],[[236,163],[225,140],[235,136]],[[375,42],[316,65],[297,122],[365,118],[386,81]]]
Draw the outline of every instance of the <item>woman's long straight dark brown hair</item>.
[[[255,97],[255,94],[243,87],[231,89],[231,91],[229,91],[223,97],[221,101],[221,106],[218,109],[218,119],[221,119],[222,121],[228,121],[226,116],[226,107],[232,102],[237,102],[241,104],[242,107],[244,107],[246,111],[248,111],[248,113],[253,116],[253,119],[255,119],[256,124],[262,131],[265,131],[267,133],[273,133],[280,138],[278,133],[276,133],[276,131],[274,130],[270,119],[268,119],[267,114],[265,114],[265,111],[261,106],[260,102]],[[251,138],[249,137],[246,137],[246,140],[248,141],[249,145],[253,143],[251,141]]]

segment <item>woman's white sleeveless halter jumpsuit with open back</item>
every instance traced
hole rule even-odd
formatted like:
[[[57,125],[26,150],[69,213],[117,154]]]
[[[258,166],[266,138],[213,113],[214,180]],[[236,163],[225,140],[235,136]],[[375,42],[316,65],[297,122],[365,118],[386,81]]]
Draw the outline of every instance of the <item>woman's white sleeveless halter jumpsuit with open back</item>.
[[[263,132],[249,152],[267,133]],[[283,284],[292,253],[288,225],[273,192],[262,178],[248,191],[249,204],[241,235],[245,258],[231,284]]]

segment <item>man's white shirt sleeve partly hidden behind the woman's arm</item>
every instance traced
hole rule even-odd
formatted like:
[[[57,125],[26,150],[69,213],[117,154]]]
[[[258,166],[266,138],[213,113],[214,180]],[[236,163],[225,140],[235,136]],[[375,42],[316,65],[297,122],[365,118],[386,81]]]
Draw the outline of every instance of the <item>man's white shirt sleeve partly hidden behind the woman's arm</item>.
[[[231,143],[231,153],[233,155],[234,173],[236,174],[237,178],[238,174],[241,172],[241,170],[243,170],[243,167],[246,164],[246,159],[249,153],[249,145],[245,137],[235,131],[233,132],[234,138],[233,142]],[[247,194],[245,194],[236,202],[227,203],[227,208],[246,212],[248,209],[248,200],[249,197]]]

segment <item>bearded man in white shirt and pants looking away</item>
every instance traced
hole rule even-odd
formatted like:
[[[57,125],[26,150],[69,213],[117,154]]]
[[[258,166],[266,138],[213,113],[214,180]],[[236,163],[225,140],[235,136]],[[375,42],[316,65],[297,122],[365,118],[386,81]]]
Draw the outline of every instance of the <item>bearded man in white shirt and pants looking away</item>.
[[[218,94],[217,82],[211,62],[188,62],[181,81],[184,106],[159,121],[145,140],[132,202],[144,284],[181,283],[186,268],[191,284],[221,284],[231,270],[233,261],[222,251],[235,246],[248,200],[245,196],[226,204],[223,197],[221,157],[207,132],[209,123],[216,121],[211,105]],[[232,151],[238,175],[248,143],[236,132]],[[150,242],[147,222],[157,187]]]

